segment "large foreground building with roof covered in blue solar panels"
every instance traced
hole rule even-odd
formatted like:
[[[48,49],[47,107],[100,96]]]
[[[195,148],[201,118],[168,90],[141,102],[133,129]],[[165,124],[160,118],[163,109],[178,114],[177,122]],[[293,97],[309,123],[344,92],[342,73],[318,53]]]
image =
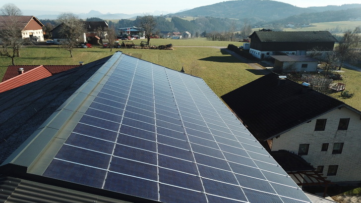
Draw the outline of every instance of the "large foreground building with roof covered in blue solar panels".
[[[120,51],[0,93],[0,118],[0,202],[310,202],[201,78]]]

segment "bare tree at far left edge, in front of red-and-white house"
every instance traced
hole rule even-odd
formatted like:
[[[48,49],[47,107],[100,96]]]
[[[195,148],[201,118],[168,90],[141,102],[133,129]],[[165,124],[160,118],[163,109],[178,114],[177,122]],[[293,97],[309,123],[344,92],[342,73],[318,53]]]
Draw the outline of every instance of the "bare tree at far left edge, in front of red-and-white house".
[[[1,17],[1,16],[0,16]],[[11,64],[14,65],[14,58],[20,57],[20,49],[23,47],[24,40],[21,35],[21,26],[16,17],[6,17],[3,20],[2,30],[0,31],[0,55],[11,58]]]

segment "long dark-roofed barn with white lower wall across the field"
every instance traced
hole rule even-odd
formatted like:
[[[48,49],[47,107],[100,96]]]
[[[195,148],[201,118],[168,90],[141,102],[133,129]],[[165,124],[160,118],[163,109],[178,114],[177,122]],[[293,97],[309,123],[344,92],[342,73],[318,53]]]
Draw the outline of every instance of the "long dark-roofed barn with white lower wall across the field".
[[[256,58],[269,58],[278,52],[305,55],[307,51],[332,51],[336,38],[328,31],[274,32],[255,31],[249,52]]]

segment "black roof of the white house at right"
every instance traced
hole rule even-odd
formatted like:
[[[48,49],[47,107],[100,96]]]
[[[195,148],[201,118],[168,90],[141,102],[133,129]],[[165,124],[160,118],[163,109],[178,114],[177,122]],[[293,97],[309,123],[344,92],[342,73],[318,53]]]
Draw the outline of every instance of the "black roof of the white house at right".
[[[346,105],[292,80],[279,80],[270,73],[221,97],[262,141]]]

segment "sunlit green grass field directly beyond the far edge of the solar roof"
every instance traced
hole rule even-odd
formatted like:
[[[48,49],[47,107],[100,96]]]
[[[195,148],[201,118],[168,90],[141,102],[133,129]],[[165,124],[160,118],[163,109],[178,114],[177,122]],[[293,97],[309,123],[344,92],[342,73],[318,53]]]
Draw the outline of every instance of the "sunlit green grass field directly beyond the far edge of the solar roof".
[[[154,41],[157,40],[154,39]],[[115,51],[122,51],[175,70],[181,70],[183,65],[186,73],[203,78],[218,96],[222,96],[261,76],[257,74],[257,71],[250,70],[247,64],[240,63],[236,58],[222,53],[219,49],[202,47],[176,47],[171,51],[113,49],[112,52],[109,49],[101,48],[75,49],[72,58],[68,51],[58,49],[57,46],[26,47],[20,52],[21,57],[15,58],[15,64],[70,65],[78,64],[79,61],[84,61],[86,64],[111,55]],[[3,73],[10,64],[10,58],[0,57],[0,78],[3,77]]]

